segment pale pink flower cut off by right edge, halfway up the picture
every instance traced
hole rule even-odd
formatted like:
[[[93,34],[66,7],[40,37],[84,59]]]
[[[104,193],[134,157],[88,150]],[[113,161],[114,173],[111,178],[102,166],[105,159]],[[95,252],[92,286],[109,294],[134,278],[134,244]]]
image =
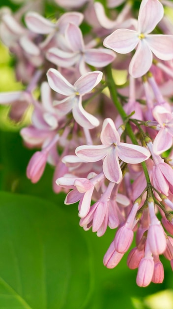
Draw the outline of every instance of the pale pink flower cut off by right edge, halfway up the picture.
[[[156,106],[152,113],[160,129],[153,142],[153,152],[161,154],[173,145],[173,113],[163,106]]]

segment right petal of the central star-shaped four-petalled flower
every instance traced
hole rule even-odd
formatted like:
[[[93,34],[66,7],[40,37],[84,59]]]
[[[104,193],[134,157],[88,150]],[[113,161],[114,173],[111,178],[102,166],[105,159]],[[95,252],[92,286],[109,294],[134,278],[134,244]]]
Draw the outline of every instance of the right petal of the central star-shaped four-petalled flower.
[[[138,145],[119,143],[117,145],[119,158],[126,163],[141,163],[150,157],[150,152]]]

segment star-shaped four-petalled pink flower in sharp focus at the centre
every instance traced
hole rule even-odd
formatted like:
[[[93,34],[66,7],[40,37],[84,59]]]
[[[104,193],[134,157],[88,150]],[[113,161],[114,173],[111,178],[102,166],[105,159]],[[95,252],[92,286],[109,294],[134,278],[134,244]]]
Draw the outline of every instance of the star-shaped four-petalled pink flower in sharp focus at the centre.
[[[111,118],[104,120],[100,139],[102,145],[79,146],[76,154],[87,162],[96,162],[104,158],[103,172],[112,182],[119,183],[122,179],[119,158],[126,163],[140,163],[150,156],[144,147],[120,142],[120,136]]]

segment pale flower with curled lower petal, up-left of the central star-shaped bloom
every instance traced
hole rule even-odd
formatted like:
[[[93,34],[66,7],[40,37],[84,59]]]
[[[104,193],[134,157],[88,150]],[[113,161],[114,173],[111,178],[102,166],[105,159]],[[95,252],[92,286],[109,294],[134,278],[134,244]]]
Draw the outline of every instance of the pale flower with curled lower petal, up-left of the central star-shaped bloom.
[[[81,76],[74,85],[70,84],[56,69],[49,69],[47,73],[48,83],[56,92],[66,96],[55,104],[61,115],[72,111],[77,123],[88,129],[99,125],[99,120],[87,113],[82,106],[82,97],[90,92],[102,79],[100,71],[89,72]]]

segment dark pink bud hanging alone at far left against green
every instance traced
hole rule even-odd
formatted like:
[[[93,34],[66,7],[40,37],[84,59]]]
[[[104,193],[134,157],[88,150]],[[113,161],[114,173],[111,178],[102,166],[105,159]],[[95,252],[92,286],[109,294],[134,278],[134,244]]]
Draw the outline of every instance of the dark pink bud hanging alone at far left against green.
[[[32,155],[27,166],[27,177],[32,183],[36,183],[42,176],[47,161],[47,153],[37,151]]]

